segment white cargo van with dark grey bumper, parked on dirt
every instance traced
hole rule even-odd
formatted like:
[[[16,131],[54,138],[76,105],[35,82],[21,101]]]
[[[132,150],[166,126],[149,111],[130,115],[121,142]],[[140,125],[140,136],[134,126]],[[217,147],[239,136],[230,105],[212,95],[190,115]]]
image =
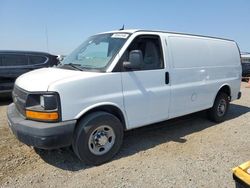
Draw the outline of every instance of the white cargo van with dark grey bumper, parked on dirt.
[[[208,110],[225,119],[239,99],[241,60],[232,40],[162,31],[94,35],[60,66],[20,76],[9,125],[27,145],[73,146],[100,164],[119,150],[125,130]]]

